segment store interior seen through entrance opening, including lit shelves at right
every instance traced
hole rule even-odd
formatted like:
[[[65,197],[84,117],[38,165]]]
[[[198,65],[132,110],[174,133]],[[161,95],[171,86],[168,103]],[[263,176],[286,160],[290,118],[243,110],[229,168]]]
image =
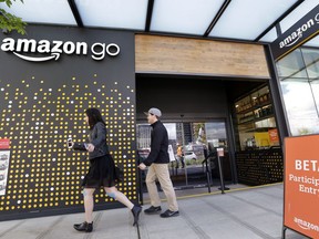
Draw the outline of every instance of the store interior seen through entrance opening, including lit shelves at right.
[[[176,190],[220,185],[217,148],[226,187],[237,185],[236,152],[267,149],[276,129],[267,82],[203,76],[136,76],[137,150],[150,153],[151,127],[143,112],[158,107],[168,131],[169,172]],[[265,139],[266,138],[266,139]],[[254,142],[255,141],[255,142]],[[183,157],[177,148],[183,147]],[[209,175],[209,176],[208,176]],[[143,190],[145,173],[142,173]],[[193,194],[194,190],[189,190]]]

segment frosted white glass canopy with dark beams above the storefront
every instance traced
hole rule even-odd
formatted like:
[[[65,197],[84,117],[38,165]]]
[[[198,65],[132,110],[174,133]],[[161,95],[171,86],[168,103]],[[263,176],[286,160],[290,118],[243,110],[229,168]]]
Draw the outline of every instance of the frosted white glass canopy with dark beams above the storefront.
[[[20,0],[0,9],[32,24],[272,42],[318,0]],[[313,43],[312,43],[313,45]]]

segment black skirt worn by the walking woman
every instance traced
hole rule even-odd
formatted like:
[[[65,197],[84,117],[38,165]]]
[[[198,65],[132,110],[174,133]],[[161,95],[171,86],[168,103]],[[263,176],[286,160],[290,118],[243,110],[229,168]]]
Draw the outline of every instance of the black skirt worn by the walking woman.
[[[113,187],[123,179],[110,154],[90,159],[90,168],[82,186],[85,188]]]

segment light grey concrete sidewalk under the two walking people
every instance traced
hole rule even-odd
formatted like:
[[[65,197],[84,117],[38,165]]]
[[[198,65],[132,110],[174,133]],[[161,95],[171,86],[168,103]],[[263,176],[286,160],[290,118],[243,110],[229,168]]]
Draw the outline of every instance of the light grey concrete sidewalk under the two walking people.
[[[138,229],[132,227],[133,217],[126,208],[96,211],[91,233],[73,229],[73,224],[83,221],[83,214],[1,221],[0,239],[279,239],[282,198],[282,184],[182,197],[179,217],[142,212]],[[165,201],[162,208],[166,209]],[[306,237],[287,230],[286,238]]]

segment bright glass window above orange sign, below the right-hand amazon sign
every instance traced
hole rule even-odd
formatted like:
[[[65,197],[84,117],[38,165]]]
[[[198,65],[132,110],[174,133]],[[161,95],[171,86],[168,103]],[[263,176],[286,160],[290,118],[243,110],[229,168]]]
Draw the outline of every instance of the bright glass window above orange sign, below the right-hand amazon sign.
[[[319,134],[319,49],[296,49],[276,66],[291,135]]]

